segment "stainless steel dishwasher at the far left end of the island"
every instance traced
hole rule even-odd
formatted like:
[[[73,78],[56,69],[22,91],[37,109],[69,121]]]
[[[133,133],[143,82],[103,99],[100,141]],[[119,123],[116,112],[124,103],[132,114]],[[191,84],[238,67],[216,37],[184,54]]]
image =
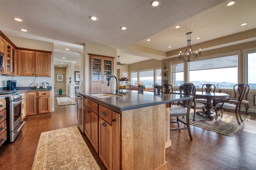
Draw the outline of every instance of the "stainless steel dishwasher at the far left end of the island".
[[[76,94],[76,118],[80,130],[84,133],[84,96]]]

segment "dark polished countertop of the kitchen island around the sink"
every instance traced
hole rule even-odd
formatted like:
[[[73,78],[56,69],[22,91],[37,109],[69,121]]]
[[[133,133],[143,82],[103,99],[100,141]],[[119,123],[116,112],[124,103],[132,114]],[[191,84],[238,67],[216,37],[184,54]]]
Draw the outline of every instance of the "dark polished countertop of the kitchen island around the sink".
[[[112,108],[114,111],[124,111],[170,102],[178,102],[180,100],[192,98],[191,96],[180,96],[179,94],[157,94],[154,92],[138,92],[134,90],[120,90],[119,95],[122,96],[110,98],[97,98],[90,95],[102,93],[97,91],[82,91],[76,93],[85,96],[94,102],[104,104],[105,106]]]

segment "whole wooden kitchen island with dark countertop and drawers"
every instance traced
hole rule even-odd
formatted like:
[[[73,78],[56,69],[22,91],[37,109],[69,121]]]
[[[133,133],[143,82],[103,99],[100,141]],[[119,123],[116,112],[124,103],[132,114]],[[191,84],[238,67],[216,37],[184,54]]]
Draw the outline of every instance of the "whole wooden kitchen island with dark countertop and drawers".
[[[192,97],[132,90],[120,90],[120,96],[92,95],[98,93],[78,92],[84,96],[84,133],[106,168],[166,170],[168,107]]]

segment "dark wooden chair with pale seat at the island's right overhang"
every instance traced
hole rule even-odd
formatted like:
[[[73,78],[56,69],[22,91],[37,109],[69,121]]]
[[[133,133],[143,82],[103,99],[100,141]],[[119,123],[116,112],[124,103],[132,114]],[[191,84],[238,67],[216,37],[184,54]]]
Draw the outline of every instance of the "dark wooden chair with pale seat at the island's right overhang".
[[[196,88],[193,85],[190,84],[182,84],[180,86],[180,95],[190,95],[190,96],[195,96],[196,94]],[[192,105],[193,99],[190,100],[183,100],[182,102],[178,102],[178,105],[172,105],[170,107],[170,119],[173,121],[170,121],[170,123],[177,123],[178,127],[176,128],[170,128],[170,131],[180,131],[180,130],[185,130],[188,129],[188,134],[190,137],[190,140],[192,141],[192,135],[190,132],[190,121],[189,121],[189,116],[190,116],[190,108]],[[180,116],[186,116],[186,122],[182,121],[179,119]],[[176,120],[175,118],[176,117]],[[186,126],[180,127],[180,122],[183,123]]]

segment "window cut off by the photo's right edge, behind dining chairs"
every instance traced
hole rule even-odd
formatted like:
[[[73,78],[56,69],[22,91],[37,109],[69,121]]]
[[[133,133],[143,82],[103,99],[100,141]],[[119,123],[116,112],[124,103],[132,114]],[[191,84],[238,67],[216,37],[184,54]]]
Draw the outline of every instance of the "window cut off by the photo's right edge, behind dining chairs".
[[[256,53],[248,53],[247,57],[247,84],[251,89],[256,89]]]

